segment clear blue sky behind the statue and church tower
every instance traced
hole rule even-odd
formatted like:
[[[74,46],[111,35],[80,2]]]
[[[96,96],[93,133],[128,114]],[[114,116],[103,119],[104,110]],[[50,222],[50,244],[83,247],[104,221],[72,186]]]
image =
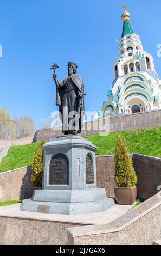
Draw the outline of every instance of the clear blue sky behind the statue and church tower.
[[[86,110],[100,111],[111,89],[123,4],[161,77],[160,0],[1,0],[0,108],[6,106],[11,118],[31,115],[38,127],[57,110],[50,66],[60,66],[57,77],[62,80],[72,61],[85,83]]]

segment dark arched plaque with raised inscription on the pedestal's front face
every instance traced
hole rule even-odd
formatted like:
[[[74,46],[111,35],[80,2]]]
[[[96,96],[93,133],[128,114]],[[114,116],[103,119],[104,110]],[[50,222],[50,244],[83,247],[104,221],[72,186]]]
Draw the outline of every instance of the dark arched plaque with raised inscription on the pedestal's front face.
[[[68,159],[63,154],[56,154],[50,161],[49,185],[69,185]]]

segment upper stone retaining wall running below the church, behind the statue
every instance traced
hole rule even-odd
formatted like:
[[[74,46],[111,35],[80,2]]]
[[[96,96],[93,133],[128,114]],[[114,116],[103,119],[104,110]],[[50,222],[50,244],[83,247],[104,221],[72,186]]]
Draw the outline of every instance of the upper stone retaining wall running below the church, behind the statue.
[[[100,120],[100,123],[98,124],[98,120],[94,120],[85,123],[85,129],[81,132],[81,135],[85,136],[99,133],[102,122],[103,120]],[[91,129],[88,130],[87,126],[91,127]],[[109,126],[110,132],[158,127],[161,126],[161,110],[112,117],[110,118]],[[98,129],[94,130],[93,127],[98,127]],[[61,134],[62,131],[57,131],[57,129],[54,128],[38,130],[35,133],[35,141],[48,141],[48,139],[55,138]]]

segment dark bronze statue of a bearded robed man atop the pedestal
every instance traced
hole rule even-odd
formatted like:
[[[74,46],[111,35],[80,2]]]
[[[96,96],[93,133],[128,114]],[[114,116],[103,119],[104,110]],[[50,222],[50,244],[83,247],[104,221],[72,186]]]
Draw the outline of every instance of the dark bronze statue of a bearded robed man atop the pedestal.
[[[62,81],[57,80],[54,72],[53,78],[56,84],[56,105],[61,112],[63,133],[65,135],[81,132],[84,112],[84,85],[82,78],[76,74],[78,66],[68,63],[68,76]]]

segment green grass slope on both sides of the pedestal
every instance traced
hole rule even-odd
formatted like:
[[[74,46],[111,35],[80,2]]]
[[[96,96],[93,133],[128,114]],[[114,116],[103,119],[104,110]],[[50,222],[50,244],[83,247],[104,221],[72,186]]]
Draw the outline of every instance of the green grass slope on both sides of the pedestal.
[[[129,153],[161,157],[161,127],[113,132],[108,136],[92,135],[86,138],[99,148],[96,155],[113,155],[118,135],[126,139]],[[0,172],[30,165],[39,143],[41,142],[11,147],[0,163]]]

